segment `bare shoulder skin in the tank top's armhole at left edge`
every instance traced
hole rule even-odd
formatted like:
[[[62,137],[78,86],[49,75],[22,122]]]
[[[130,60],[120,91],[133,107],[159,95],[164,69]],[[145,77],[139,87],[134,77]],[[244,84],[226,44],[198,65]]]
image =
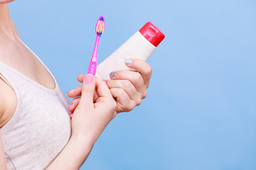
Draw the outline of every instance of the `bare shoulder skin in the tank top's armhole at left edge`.
[[[0,77],[0,128],[14,115],[17,105],[16,94]]]

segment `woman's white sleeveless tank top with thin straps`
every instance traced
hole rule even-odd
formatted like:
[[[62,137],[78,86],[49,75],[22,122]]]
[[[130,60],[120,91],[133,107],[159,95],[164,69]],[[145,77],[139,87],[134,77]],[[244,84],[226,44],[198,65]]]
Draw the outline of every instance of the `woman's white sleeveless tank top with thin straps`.
[[[9,170],[46,169],[70,139],[70,101],[46,69],[55,81],[55,89],[46,88],[0,61],[0,77],[17,97],[14,115],[0,130]]]

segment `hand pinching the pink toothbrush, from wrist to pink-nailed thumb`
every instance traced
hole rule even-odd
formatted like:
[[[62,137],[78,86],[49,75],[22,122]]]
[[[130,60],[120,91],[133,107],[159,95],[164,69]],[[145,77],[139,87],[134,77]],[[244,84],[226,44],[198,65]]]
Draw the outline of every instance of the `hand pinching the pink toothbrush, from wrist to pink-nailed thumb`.
[[[97,92],[98,98],[93,101]],[[96,142],[102,131],[117,115],[117,104],[104,81],[87,74],[82,83],[80,103],[73,113],[72,137],[85,137]]]

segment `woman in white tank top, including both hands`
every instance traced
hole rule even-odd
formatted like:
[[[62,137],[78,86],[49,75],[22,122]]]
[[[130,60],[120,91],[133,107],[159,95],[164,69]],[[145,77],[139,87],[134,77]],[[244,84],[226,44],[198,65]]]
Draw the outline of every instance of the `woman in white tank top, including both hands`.
[[[0,0],[0,169],[79,169],[117,113],[146,97],[151,67],[117,71],[110,81],[78,75],[82,86],[63,94],[46,65],[21,41]],[[68,110],[69,109],[69,110]],[[73,118],[70,121],[70,113]]]

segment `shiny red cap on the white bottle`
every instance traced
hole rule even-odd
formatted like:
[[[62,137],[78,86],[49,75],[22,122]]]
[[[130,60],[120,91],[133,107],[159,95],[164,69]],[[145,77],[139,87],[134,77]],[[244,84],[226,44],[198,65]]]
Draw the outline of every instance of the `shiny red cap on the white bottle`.
[[[161,30],[154,26],[153,23],[147,22],[142,29],[139,30],[146,40],[151,42],[152,45],[157,47],[162,40],[164,40],[165,35],[161,33]]]

